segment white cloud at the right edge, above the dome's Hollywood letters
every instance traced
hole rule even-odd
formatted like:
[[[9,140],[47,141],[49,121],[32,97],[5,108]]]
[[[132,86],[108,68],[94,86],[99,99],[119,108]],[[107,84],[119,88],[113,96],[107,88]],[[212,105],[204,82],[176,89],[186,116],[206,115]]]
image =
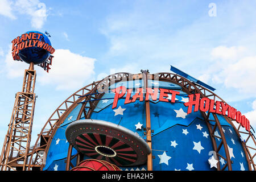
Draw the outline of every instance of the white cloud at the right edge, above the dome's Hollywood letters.
[[[244,46],[218,46],[212,49],[214,60],[203,69],[199,80],[222,84],[248,97],[256,95],[256,56]],[[239,95],[237,97],[240,97]],[[236,98],[237,98],[236,97]]]

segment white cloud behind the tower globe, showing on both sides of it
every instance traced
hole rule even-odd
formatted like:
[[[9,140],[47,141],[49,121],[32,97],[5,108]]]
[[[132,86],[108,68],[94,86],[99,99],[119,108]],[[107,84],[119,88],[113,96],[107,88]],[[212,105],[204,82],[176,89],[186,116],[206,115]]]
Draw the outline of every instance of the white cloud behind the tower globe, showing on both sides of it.
[[[95,59],[72,53],[68,49],[56,49],[53,56],[49,73],[35,65],[36,79],[40,84],[53,85],[57,90],[73,90],[81,88],[93,78]],[[28,69],[28,64],[14,61],[11,51],[5,56],[3,70],[8,78],[23,77],[25,69]]]

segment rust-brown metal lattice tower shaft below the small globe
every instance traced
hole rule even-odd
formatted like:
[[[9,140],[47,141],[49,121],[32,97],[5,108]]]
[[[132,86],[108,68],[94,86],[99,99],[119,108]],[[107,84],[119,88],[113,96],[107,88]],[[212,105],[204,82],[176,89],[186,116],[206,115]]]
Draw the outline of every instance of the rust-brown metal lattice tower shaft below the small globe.
[[[35,109],[34,63],[24,72],[22,92],[16,93],[11,121],[0,158],[1,171],[26,171]]]

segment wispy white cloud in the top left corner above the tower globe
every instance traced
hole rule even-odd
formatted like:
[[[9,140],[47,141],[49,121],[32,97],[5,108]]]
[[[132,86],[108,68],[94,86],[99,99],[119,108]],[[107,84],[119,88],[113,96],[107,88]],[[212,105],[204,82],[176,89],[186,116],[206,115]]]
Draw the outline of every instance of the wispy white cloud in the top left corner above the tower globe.
[[[11,19],[16,19],[14,14],[28,15],[32,28],[42,28],[48,16],[46,4],[38,0],[0,0],[0,14]]]

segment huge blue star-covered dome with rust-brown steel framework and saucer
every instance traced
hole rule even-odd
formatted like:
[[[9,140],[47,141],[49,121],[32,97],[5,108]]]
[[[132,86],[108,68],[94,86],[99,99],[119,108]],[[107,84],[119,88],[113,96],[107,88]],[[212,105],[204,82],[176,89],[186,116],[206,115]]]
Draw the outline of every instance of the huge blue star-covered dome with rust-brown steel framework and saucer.
[[[127,103],[126,92],[113,108],[113,89],[125,86],[133,98],[137,90],[146,85],[179,94],[175,102],[171,102],[169,95],[166,96],[169,101],[163,102],[159,100],[160,91],[156,91],[158,96],[156,100],[149,97],[148,107],[146,101],[139,98]],[[255,169],[254,153],[248,152],[248,144],[241,139],[241,127],[234,121],[224,115],[201,111],[187,114],[184,103],[188,102],[189,94],[197,92],[221,100],[203,86],[172,73],[148,73],[146,78],[141,73],[115,73],[68,97],[46,122],[37,140],[39,148],[35,147],[33,152],[44,150],[46,160],[41,170],[46,171],[71,170],[68,159],[73,167],[79,166],[82,160],[93,159],[105,160],[123,171],[148,170],[148,156],[152,158],[152,170],[156,171]],[[150,149],[147,143],[149,116]],[[253,130],[247,140],[254,137],[251,132]]]

